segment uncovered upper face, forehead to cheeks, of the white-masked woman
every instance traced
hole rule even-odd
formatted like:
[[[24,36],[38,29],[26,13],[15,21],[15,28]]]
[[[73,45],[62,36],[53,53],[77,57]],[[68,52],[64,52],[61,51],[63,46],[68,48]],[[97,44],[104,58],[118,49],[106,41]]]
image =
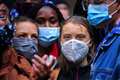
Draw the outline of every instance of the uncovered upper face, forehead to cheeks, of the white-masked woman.
[[[91,40],[86,27],[74,23],[67,23],[62,29],[61,43],[71,39],[77,39],[84,42]]]

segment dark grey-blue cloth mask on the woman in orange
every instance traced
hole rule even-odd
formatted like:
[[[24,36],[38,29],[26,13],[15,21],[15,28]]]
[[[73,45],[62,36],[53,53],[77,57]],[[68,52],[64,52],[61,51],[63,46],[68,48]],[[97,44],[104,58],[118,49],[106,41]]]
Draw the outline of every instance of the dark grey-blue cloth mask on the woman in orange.
[[[14,37],[12,46],[18,54],[25,56],[29,60],[33,58],[34,54],[38,53],[37,42],[33,39]]]

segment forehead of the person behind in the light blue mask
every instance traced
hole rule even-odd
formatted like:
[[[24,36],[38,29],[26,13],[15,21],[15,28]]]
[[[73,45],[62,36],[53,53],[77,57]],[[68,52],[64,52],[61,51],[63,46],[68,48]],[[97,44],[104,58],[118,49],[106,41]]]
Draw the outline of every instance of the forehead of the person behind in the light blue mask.
[[[41,15],[57,15],[56,11],[49,7],[49,6],[44,6],[42,8],[39,9],[37,16],[41,16]]]

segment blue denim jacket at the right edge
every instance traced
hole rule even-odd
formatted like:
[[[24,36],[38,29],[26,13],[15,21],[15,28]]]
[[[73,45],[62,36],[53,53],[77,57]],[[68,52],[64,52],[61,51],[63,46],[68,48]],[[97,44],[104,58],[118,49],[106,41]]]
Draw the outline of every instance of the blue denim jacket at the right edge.
[[[100,43],[90,80],[120,80],[120,25]]]

